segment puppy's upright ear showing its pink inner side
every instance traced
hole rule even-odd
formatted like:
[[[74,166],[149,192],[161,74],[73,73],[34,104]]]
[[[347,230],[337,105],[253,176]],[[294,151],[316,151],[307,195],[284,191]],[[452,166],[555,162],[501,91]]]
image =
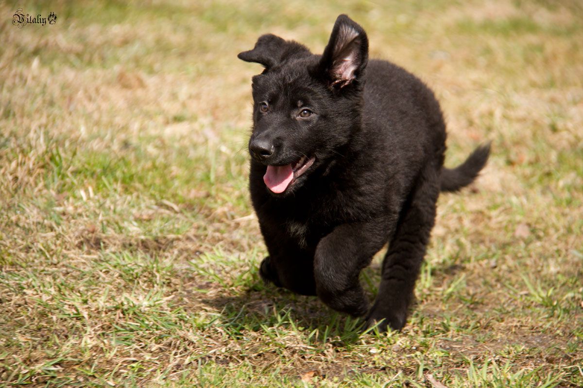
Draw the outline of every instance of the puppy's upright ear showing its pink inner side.
[[[338,16],[320,69],[331,88],[343,88],[363,76],[368,61],[368,38],[363,28],[346,15]]]

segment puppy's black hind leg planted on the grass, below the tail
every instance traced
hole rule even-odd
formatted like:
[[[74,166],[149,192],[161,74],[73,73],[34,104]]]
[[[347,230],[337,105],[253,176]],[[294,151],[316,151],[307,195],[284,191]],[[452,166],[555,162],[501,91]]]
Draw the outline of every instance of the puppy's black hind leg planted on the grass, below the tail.
[[[382,263],[377,300],[370,309],[367,325],[379,323],[400,330],[405,326],[415,282],[425,256],[436,216],[439,195],[438,169],[427,165],[417,179],[399,216],[399,222]]]

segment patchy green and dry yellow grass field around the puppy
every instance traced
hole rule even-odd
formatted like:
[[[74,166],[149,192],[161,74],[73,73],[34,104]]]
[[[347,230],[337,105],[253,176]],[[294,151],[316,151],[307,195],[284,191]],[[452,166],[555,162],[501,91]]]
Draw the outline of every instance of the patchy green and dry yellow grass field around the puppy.
[[[436,92],[448,166],[493,142],[440,197],[401,333],[257,273],[261,66],[236,55],[268,32],[321,52],[339,13]],[[579,0],[23,0],[0,20],[0,386],[583,386]]]

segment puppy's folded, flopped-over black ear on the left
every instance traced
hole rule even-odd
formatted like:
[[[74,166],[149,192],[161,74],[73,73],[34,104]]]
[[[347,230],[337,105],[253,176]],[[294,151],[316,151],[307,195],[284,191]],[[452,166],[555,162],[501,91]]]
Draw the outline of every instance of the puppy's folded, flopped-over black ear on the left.
[[[269,70],[290,56],[298,54],[310,54],[310,50],[297,42],[285,41],[276,35],[266,34],[259,37],[252,50],[240,52],[237,57],[246,62],[261,63]]]

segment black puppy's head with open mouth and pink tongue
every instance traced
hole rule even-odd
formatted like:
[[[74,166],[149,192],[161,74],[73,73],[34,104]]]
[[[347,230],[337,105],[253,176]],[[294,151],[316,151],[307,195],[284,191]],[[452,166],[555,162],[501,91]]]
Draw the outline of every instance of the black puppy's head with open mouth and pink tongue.
[[[238,58],[265,67],[252,78],[252,163],[265,166],[273,195],[290,194],[342,158],[360,129],[366,33],[340,15],[322,55],[268,34]]]

